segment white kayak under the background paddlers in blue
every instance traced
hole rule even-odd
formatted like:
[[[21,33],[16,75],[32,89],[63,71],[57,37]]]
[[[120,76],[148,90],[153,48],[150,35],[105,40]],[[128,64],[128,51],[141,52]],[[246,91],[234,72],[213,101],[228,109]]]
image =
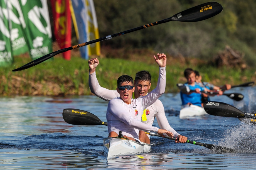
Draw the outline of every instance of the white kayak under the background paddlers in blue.
[[[183,106],[183,108],[179,112],[179,118],[180,119],[186,119],[189,117],[196,117],[196,116],[202,116],[206,115],[207,113],[203,109],[203,107],[199,107],[197,105],[189,105],[186,104]]]

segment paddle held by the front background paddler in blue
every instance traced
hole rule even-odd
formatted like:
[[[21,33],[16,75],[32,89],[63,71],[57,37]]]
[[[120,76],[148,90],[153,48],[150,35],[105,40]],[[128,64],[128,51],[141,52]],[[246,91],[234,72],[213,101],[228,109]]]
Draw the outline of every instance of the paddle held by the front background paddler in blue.
[[[189,92],[195,92],[195,90],[190,90],[188,86],[185,86],[182,83],[178,83],[177,86],[179,87],[180,91],[183,93],[189,93]],[[205,94],[219,94],[218,92],[208,92],[208,91],[201,91],[201,93]],[[233,99],[235,101],[240,101],[243,99],[243,94],[241,93],[223,93],[222,95],[228,96],[230,99]]]

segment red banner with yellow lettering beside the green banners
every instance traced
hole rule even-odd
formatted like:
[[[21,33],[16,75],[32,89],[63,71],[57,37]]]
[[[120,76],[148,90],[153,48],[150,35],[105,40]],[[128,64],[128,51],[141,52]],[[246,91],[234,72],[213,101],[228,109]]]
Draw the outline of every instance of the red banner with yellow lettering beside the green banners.
[[[53,9],[54,35],[60,48],[71,47],[71,14],[69,0],[51,0]],[[70,51],[63,58],[70,60]]]

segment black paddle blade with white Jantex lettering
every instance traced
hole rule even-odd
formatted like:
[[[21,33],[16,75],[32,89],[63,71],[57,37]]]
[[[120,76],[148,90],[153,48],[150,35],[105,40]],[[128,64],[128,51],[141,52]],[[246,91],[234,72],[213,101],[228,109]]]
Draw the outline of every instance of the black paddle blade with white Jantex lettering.
[[[244,113],[232,105],[223,102],[204,102],[205,112],[214,116],[244,117]]]

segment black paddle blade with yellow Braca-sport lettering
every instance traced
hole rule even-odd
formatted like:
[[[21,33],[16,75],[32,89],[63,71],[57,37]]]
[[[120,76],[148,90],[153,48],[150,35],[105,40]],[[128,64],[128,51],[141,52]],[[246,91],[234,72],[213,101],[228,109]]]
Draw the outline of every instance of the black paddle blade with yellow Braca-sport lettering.
[[[107,122],[102,122],[99,117],[94,114],[79,110],[79,109],[64,109],[62,112],[63,119],[65,122],[71,125],[106,125]]]

